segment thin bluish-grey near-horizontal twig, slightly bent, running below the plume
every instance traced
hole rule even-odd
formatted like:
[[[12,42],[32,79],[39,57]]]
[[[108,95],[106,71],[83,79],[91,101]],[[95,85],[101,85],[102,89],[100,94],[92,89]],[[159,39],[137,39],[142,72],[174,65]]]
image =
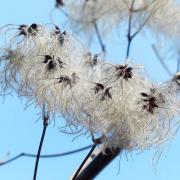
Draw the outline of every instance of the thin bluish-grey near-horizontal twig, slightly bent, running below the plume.
[[[75,149],[75,150],[72,150],[72,151],[68,151],[68,152],[64,152],[64,153],[56,153],[56,154],[44,154],[44,155],[40,155],[39,158],[57,158],[57,157],[61,157],[61,156],[67,156],[67,155],[71,155],[71,154],[74,154],[74,153],[78,153],[78,152],[81,152],[81,151],[84,151],[84,150],[87,150],[89,148],[91,148],[93,145],[89,145],[89,146],[85,146],[83,148],[79,148],[79,149]],[[7,160],[7,161],[3,161],[3,162],[0,162],[0,166],[3,166],[3,165],[6,165],[8,163],[11,163],[21,157],[30,157],[30,158],[36,158],[37,157],[37,154],[31,154],[31,153],[20,153],[16,156],[14,156],[13,158]]]

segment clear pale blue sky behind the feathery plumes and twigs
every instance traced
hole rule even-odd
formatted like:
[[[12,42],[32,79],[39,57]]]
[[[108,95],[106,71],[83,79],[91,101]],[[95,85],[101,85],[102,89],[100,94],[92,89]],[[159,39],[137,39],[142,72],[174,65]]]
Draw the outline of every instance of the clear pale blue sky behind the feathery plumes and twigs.
[[[5,24],[45,24],[57,23],[64,26],[64,17],[55,9],[53,0],[0,0],[0,26]],[[78,12],[78,10],[77,10]],[[51,15],[51,18],[50,18]],[[148,33],[138,36],[132,45],[131,57],[137,63],[143,63],[150,78],[164,81],[168,76],[151,50],[155,42],[154,35]],[[81,38],[81,37],[79,37]],[[83,41],[83,39],[81,39]],[[124,40],[119,42],[112,34],[107,38],[107,59],[114,63],[121,62]],[[91,46],[92,52],[98,52],[95,39]],[[175,72],[176,61],[169,59],[167,64]],[[39,109],[29,107],[24,110],[26,100],[16,95],[0,98],[0,161],[7,159],[9,152],[13,157],[21,152],[36,153],[42,132],[42,122],[36,122]],[[74,136],[62,134],[58,126],[63,120],[58,118],[47,129],[42,154],[65,152],[91,144],[90,138],[81,136],[72,141]],[[38,180],[66,180],[80,165],[87,151],[55,159],[41,159],[38,170]],[[155,151],[136,152],[118,156],[96,179],[97,180],[179,180],[180,179],[180,133],[168,143],[156,166],[153,166]],[[157,158],[157,156],[156,156]],[[5,166],[0,166],[0,180],[31,180],[33,177],[35,159],[23,157]]]

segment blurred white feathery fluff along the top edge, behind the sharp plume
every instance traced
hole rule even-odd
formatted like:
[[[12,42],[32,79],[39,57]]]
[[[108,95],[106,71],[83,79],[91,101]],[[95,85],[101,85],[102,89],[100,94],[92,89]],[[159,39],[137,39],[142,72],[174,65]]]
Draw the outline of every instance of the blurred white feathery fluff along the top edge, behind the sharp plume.
[[[143,26],[169,38],[180,35],[180,6],[176,0],[67,0],[65,8],[73,28],[86,34],[94,32],[97,24],[104,36],[128,22],[131,14],[132,27],[137,30]]]

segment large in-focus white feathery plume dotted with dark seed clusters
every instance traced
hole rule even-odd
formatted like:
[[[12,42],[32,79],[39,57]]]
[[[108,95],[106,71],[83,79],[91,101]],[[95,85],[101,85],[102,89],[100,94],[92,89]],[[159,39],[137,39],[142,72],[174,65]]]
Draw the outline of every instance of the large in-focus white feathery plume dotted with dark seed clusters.
[[[156,85],[132,60],[105,62],[57,26],[20,27],[1,52],[2,93],[46,103],[66,120],[65,132],[85,129],[106,147],[144,150],[173,137],[180,111],[174,81]]]

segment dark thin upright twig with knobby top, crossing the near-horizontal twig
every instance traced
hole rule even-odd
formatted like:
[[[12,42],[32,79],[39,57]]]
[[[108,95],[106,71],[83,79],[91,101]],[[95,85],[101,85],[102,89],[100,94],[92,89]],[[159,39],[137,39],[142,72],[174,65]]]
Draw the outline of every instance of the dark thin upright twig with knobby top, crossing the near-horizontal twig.
[[[37,153],[37,157],[36,157],[33,180],[36,180],[36,177],[37,177],[39,158],[40,158],[40,155],[41,155],[41,149],[42,149],[42,145],[43,145],[43,142],[44,142],[44,137],[45,137],[46,129],[47,129],[47,126],[48,126],[48,121],[49,121],[49,115],[48,115],[48,113],[46,114],[45,104],[44,104],[43,105],[43,132],[42,132],[42,135],[41,135],[41,140],[40,140],[40,143],[39,143],[38,153]]]

